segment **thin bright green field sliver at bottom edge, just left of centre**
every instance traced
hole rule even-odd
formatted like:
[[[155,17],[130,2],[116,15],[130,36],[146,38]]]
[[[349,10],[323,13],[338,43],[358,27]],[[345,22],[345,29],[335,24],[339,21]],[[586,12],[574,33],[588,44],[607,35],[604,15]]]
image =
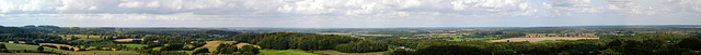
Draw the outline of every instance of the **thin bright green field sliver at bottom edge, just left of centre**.
[[[329,55],[382,55],[384,52],[369,52],[369,53],[343,53],[333,50],[325,51],[314,51],[317,54],[329,54]]]

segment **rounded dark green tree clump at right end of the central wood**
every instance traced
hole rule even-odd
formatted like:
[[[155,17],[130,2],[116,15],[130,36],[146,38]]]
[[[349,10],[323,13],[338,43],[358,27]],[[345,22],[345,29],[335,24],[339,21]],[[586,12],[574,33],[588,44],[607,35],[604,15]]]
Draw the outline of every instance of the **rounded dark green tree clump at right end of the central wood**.
[[[387,51],[387,49],[388,49],[388,45],[386,43],[369,42],[369,41],[358,41],[358,42],[350,42],[346,44],[338,44],[335,47],[336,51],[346,52],[346,53],[379,52],[379,51]]]

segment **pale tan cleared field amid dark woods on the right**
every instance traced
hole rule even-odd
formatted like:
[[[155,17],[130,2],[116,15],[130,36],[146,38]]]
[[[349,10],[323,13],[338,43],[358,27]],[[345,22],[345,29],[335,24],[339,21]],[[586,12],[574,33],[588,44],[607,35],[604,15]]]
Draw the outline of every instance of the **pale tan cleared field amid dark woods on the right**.
[[[506,42],[506,41],[510,41],[510,42],[521,42],[521,41],[538,42],[538,41],[543,41],[543,40],[579,40],[579,39],[599,39],[599,38],[570,38],[570,37],[508,38],[508,39],[492,40],[492,42]]]

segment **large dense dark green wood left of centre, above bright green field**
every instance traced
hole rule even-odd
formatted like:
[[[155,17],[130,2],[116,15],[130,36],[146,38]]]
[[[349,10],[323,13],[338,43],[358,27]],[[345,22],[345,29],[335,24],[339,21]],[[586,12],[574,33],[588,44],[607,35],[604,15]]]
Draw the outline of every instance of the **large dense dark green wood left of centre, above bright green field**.
[[[331,50],[337,44],[361,41],[358,38],[335,35],[301,35],[291,32],[273,32],[257,35],[239,35],[234,40],[250,42],[263,49],[286,50]]]

